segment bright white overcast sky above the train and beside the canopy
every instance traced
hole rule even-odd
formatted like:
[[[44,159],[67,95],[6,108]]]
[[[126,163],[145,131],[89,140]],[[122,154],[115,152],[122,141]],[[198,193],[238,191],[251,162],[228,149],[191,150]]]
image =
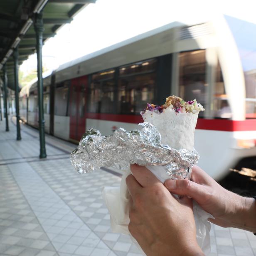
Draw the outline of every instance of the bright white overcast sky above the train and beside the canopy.
[[[59,65],[173,21],[202,22],[223,13],[256,24],[255,0],[97,0],[45,42],[43,65]],[[36,54],[20,66],[37,68]]]

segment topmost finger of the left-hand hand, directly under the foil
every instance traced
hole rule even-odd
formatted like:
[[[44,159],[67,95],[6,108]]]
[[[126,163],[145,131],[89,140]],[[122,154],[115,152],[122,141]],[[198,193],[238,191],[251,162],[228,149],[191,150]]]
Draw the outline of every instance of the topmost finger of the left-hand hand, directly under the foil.
[[[150,187],[156,183],[161,183],[158,178],[144,166],[130,165],[130,170],[142,187]]]

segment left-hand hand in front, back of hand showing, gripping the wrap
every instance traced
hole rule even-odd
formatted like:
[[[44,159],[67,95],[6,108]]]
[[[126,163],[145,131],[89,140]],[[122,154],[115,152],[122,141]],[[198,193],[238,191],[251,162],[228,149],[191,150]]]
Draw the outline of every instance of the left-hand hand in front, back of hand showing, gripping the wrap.
[[[176,199],[147,168],[131,165],[128,226],[148,256],[204,255],[196,241],[192,200]]]

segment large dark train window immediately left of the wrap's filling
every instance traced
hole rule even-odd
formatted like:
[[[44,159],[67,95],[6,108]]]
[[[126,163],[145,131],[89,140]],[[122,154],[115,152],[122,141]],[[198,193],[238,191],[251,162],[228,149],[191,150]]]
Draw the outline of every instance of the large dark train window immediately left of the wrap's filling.
[[[154,100],[156,59],[122,66],[118,80],[118,113],[139,114]]]

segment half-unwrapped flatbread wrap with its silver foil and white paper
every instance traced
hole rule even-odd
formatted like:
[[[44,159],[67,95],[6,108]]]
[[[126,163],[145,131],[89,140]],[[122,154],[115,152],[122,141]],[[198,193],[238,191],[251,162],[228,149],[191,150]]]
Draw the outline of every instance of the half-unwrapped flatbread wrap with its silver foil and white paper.
[[[128,190],[126,177],[130,164],[146,166],[161,182],[166,179],[190,178],[197,163],[194,150],[194,130],[199,111],[204,108],[193,101],[176,96],[166,98],[165,104],[149,104],[141,112],[145,123],[142,129],[126,132],[120,128],[113,135],[102,136],[90,129],[79,147],[71,153],[71,163],[77,171],[91,172],[99,167],[118,167],[125,170],[120,187],[104,187],[103,199],[108,207],[113,232],[129,234]],[[205,253],[209,251],[210,216],[194,204],[197,241]]]

